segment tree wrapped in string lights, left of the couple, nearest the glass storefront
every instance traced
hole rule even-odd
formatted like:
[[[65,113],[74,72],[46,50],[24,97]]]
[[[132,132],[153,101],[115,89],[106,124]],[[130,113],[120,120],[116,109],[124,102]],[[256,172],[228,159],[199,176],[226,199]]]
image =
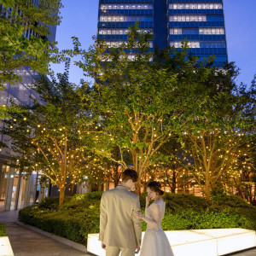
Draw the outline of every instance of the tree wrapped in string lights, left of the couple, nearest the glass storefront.
[[[10,118],[3,120],[2,131],[12,138],[13,150],[28,159],[29,166],[41,170],[58,186],[59,207],[67,186],[84,178],[86,145],[79,129],[90,126],[86,122],[90,112],[82,104],[87,86],[68,82],[68,66],[67,62],[66,72],[57,74],[58,80],[52,76],[49,81],[42,76],[33,88],[45,104],[35,101],[31,107],[21,106],[21,113],[9,113]]]

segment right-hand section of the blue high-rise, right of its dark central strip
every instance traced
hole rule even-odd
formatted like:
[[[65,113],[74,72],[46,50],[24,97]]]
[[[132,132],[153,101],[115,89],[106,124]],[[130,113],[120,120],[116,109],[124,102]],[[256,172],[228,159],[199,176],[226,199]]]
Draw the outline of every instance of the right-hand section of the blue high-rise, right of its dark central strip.
[[[190,52],[201,59],[215,55],[215,65],[227,61],[223,0],[169,0],[168,44],[181,47],[189,41]]]

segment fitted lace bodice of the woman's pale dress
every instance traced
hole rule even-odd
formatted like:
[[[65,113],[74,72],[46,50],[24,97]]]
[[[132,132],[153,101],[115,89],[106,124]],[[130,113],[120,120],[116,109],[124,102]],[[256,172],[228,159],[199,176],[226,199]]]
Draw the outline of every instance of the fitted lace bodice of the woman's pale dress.
[[[158,223],[158,229],[162,230],[161,222],[165,216],[166,203],[159,199],[158,201],[154,201],[147,209],[146,209],[146,217],[150,218]],[[148,224],[147,230],[155,230],[150,224]]]

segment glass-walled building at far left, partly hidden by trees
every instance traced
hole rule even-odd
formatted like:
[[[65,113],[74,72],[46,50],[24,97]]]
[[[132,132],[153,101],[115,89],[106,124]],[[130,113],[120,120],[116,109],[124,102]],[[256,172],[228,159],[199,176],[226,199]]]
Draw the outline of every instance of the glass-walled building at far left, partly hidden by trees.
[[[34,4],[38,0],[34,0]],[[1,4],[0,4],[1,5]],[[7,15],[8,17],[8,15]],[[55,41],[56,26],[49,26],[49,41]],[[26,38],[31,35],[37,36],[32,30],[25,32]],[[21,77],[21,80],[15,84],[5,83],[5,89],[0,90],[0,104],[9,106],[11,100],[17,104],[29,105],[32,99],[39,96],[32,90],[32,84],[38,79],[38,73],[31,67],[20,67],[14,71]],[[0,126],[3,123],[0,122]],[[0,134],[0,141],[10,145],[9,137]],[[14,155],[9,148],[0,148],[0,212],[3,210],[13,210],[23,206],[31,205],[35,200],[36,189],[34,188],[36,173],[32,173],[29,179],[23,179],[19,170],[11,166],[11,156]]]

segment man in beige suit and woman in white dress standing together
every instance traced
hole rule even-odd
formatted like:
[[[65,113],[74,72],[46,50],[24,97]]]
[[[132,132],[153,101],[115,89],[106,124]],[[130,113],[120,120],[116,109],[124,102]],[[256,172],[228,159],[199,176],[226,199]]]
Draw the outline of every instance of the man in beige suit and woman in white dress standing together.
[[[148,183],[145,216],[140,211],[139,197],[130,192],[137,182],[137,172],[126,169],[122,183],[103,193],[101,201],[100,237],[106,256],[173,256],[172,248],[161,228],[166,203],[160,183]],[[154,202],[149,206],[149,201]],[[142,220],[147,230],[142,240]]]

